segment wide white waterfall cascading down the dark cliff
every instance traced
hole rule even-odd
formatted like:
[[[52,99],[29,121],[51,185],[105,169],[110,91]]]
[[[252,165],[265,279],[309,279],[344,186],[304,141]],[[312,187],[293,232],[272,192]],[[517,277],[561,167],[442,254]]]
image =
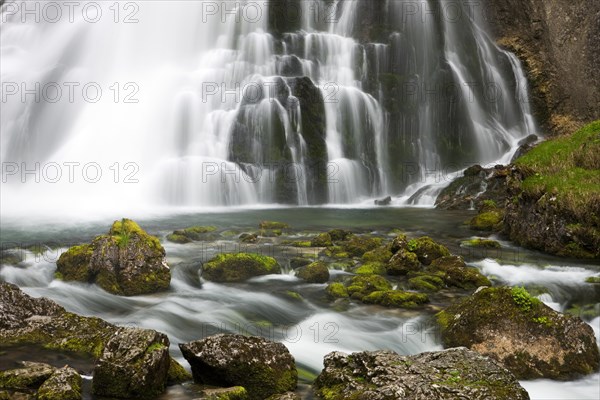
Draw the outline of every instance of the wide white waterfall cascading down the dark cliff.
[[[1,9],[3,213],[430,204],[536,131],[466,1],[52,4]]]

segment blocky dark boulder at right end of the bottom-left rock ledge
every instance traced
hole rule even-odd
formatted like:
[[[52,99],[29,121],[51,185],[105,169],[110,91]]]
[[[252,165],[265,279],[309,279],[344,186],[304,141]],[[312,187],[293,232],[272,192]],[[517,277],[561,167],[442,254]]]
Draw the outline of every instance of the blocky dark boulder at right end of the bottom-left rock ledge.
[[[165,334],[119,328],[96,363],[92,392],[105,397],[154,398],[165,390],[170,363]]]

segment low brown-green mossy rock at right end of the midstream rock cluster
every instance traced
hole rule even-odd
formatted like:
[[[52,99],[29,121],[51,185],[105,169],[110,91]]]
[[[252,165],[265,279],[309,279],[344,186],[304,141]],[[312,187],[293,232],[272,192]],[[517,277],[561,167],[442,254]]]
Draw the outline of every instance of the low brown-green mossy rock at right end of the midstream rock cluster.
[[[491,286],[488,278],[483,276],[477,268],[468,267],[460,256],[446,256],[435,259],[427,270],[441,276],[448,286],[461,289]]]

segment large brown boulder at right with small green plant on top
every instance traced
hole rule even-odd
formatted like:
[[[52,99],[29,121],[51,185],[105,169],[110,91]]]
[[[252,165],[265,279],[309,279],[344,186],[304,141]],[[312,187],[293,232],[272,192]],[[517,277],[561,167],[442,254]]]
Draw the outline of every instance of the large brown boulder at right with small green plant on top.
[[[436,315],[446,347],[465,346],[519,379],[571,379],[598,370],[592,328],[523,288],[485,288]]]

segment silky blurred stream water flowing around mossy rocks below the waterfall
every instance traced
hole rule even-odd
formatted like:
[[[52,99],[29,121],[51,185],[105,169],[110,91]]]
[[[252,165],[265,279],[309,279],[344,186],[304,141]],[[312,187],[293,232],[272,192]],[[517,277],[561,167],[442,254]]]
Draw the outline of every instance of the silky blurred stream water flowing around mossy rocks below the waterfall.
[[[461,226],[470,215],[464,211],[427,208],[288,208],[181,214],[140,220],[144,228],[163,241],[173,279],[171,289],[166,293],[136,297],[114,296],[95,286],[53,279],[60,253],[69,244],[104,233],[106,222],[39,224],[35,228],[4,224],[2,243],[6,247],[20,243],[25,249],[32,244],[46,243],[49,248],[43,254],[22,250],[25,260],[18,266],[2,266],[0,279],[19,285],[33,296],[51,298],[69,311],[98,316],[119,325],[165,332],[171,341],[173,356],[184,365],[187,364],[177,343],[211,334],[243,333],[280,341],[296,358],[301,369],[301,392],[309,398],[307,385],[322,368],[323,356],[330,351],[391,349],[401,354],[416,354],[441,349],[439,333],[430,317],[453,296],[449,293],[434,296],[431,305],[419,311],[331,304],[324,296],[325,285],[303,283],[288,267],[290,258],[298,252],[314,250],[285,247],[279,244],[280,239],[265,240],[258,245],[240,245],[235,234],[256,230],[258,221],[265,219],[291,224],[294,230],[288,239],[294,240],[302,240],[331,227],[372,232],[389,238],[398,228],[411,235],[426,233],[448,245],[453,253],[462,254],[496,284],[524,285],[538,290],[540,298],[557,310],[564,311],[574,304],[593,306],[596,303],[596,307],[599,306],[597,289],[586,284],[585,279],[597,275],[600,266],[545,256],[507,242],[502,242],[502,250],[460,247],[460,242],[472,235],[468,228]],[[178,245],[164,240],[173,229],[193,224],[212,224],[218,229],[203,242]],[[219,252],[240,250],[276,257],[284,267],[284,273],[232,285],[201,280],[199,269],[203,261]],[[334,276],[346,274],[342,270],[331,272]],[[297,298],[290,292],[302,297]],[[600,318],[584,318],[600,341]],[[19,355],[23,352],[13,357]],[[88,366],[86,370],[82,366],[80,370],[86,372],[90,368]],[[595,374],[572,382],[538,380],[525,381],[523,385],[533,399],[595,399],[599,394],[599,379],[600,376]],[[165,399],[193,396],[194,387],[188,385],[171,388]]]

